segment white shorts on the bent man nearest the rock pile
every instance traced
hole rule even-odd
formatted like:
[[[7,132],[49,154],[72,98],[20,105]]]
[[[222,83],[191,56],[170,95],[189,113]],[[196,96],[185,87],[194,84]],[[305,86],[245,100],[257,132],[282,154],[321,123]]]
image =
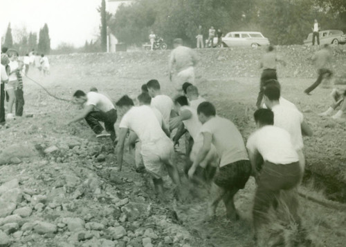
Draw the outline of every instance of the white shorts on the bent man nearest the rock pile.
[[[156,143],[142,143],[141,154],[147,172],[154,178],[161,179],[165,175],[165,162],[170,161],[174,154],[174,144],[168,137]]]

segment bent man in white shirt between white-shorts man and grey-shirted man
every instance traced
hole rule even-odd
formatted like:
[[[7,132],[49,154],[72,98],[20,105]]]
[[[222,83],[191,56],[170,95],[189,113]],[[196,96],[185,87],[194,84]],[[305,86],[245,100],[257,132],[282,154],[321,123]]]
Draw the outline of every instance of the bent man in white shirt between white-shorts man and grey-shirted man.
[[[188,174],[194,159],[196,159],[197,152],[203,146],[203,135],[201,135],[202,124],[198,119],[197,110],[188,106],[188,99],[185,96],[179,96],[174,100],[176,112],[179,112],[178,117],[174,117],[170,121],[172,128],[178,128],[180,124],[183,124],[186,130],[189,132],[191,139],[188,143],[186,151],[187,162],[184,168],[185,173]],[[184,128],[183,128],[184,129]],[[173,137],[173,141],[176,143],[179,138],[184,134],[184,131],[176,132]],[[215,175],[215,168],[218,166],[218,156],[215,150],[215,146],[212,145],[206,158],[199,164],[201,168],[204,168],[203,177],[206,181],[210,181]]]

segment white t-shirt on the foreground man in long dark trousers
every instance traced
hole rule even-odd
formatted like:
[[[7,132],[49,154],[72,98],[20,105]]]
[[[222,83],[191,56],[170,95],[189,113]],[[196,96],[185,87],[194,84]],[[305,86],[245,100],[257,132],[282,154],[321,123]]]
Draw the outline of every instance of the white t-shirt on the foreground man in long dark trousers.
[[[285,165],[299,160],[289,132],[276,126],[264,126],[253,132],[248,137],[246,148],[251,152],[260,152],[264,161],[273,164]]]

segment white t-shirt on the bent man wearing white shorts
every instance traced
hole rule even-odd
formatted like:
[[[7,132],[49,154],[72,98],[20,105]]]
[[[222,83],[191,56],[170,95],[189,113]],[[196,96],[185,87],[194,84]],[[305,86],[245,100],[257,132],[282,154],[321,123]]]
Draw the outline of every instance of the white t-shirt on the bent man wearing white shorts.
[[[156,115],[150,106],[134,106],[122,117],[119,128],[128,128],[136,133],[142,146],[166,138]]]

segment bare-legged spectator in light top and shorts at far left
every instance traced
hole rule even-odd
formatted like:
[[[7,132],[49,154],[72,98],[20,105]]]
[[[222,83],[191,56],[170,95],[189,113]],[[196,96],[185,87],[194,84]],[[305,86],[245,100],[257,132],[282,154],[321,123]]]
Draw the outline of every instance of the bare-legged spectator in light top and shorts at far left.
[[[6,116],[7,119],[15,119],[15,115],[13,115],[13,104],[16,101],[15,92],[18,88],[18,79],[17,79],[17,71],[19,68],[19,64],[17,61],[18,55],[15,50],[8,50],[8,58],[10,59],[10,63],[8,66],[10,67],[10,73],[8,75],[8,83],[6,85],[6,92],[8,93],[8,114]]]

